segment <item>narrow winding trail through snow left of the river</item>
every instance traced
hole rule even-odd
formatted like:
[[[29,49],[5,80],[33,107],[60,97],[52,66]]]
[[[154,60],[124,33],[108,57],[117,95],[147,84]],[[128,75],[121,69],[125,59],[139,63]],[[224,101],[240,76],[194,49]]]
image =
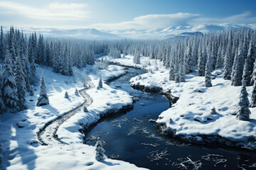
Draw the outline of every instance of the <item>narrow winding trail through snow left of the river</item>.
[[[38,132],[38,140],[40,140],[43,145],[68,145],[67,143],[61,141],[56,133],[61,124],[78,113],[78,111],[83,109],[84,106],[88,107],[92,104],[93,100],[90,95],[86,93],[86,91],[95,88],[95,85],[91,81],[88,83],[88,85],[89,88],[79,91],[82,97],[85,98],[85,101],[82,104],[46,123],[46,125],[44,125],[44,127]]]

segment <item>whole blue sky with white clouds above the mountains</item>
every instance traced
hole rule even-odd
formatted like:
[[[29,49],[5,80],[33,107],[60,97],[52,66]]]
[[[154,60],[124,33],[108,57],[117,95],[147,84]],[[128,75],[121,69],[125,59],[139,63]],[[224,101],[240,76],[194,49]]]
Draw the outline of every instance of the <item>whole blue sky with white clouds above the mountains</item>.
[[[0,0],[0,24],[33,28],[154,29],[256,24],[256,0]]]

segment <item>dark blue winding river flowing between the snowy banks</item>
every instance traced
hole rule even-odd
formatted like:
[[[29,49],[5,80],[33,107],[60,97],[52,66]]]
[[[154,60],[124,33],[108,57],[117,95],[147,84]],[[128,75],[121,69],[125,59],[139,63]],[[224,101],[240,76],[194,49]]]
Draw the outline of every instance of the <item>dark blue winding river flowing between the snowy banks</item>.
[[[139,167],[147,169],[256,169],[256,153],[230,147],[210,147],[190,145],[161,135],[156,129],[158,115],[169,108],[169,101],[160,94],[146,94],[129,86],[129,79],[137,74],[143,74],[139,69],[128,69],[129,73],[112,81],[114,89],[127,91],[139,101],[134,103],[134,109],[128,113],[105,118],[87,131],[86,137],[100,137],[105,141],[107,155],[119,155],[118,158]],[[146,104],[142,106],[141,103]],[[87,140],[88,145],[95,141]],[[143,144],[144,143],[144,144]],[[152,144],[154,146],[145,146]],[[152,160],[158,153],[166,151],[162,159]],[[149,154],[149,152],[154,152]],[[215,156],[203,157],[207,154]],[[193,163],[192,163],[192,162]],[[196,162],[197,161],[197,162]],[[181,164],[183,162],[183,164]],[[202,164],[202,165],[201,165]],[[253,167],[255,164],[255,167]]]

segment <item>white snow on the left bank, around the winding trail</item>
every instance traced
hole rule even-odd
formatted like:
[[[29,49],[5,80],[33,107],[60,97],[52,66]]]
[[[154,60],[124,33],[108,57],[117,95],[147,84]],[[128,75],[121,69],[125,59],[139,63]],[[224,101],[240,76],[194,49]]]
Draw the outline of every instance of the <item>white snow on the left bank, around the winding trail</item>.
[[[111,89],[107,84],[97,90],[99,73],[90,65],[75,69],[78,73],[76,77],[80,76],[79,72],[85,71],[95,84],[94,89],[87,91],[93,98],[92,105],[88,107],[89,112],[81,111],[63,123],[57,132],[60,139],[70,145],[41,145],[36,134],[39,129],[48,121],[78,106],[84,98],[75,95],[75,88],[79,90],[83,87],[80,82],[74,82],[74,77],[54,73],[50,67],[37,66],[36,69],[38,77],[41,72],[45,75],[50,105],[36,106],[39,96],[39,84],[36,84],[35,96],[26,96],[28,110],[1,115],[0,142],[3,144],[4,159],[0,169],[139,169],[134,164],[113,159],[97,162],[95,147],[82,144],[82,135],[78,129],[95,123],[100,118],[99,114],[106,113],[109,108],[121,108],[132,103],[129,94]],[[123,67],[111,66],[101,72],[104,81],[125,71]],[[65,91],[68,91],[69,98],[64,98]]]

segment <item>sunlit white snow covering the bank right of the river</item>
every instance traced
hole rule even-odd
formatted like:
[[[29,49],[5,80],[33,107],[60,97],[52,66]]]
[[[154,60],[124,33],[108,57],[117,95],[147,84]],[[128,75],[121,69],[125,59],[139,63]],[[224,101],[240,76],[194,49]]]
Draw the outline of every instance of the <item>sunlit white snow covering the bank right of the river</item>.
[[[255,139],[256,108],[250,108],[250,121],[236,119],[241,86],[231,86],[230,80],[223,79],[221,69],[212,72],[213,86],[206,88],[205,78],[197,76],[196,68],[195,72],[186,75],[185,82],[175,83],[169,81],[169,70],[165,69],[159,60],[156,62],[149,57],[141,57],[141,64],[133,64],[132,56],[108,58],[112,62],[127,66],[153,69],[153,73],[142,74],[142,79],[139,79],[139,76],[133,77],[130,84],[159,86],[164,91],[171,89],[171,94],[179,97],[177,103],[161,113],[156,121],[176,131],[176,135],[198,140],[201,140],[201,137],[196,137],[198,135],[219,135],[231,141],[245,143],[250,137]],[[154,70],[156,65],[158,70]],[[252,86],[247,87],[247,92],[250,100]],[[213,107],[216,109],[216,115],[210,115]]]

